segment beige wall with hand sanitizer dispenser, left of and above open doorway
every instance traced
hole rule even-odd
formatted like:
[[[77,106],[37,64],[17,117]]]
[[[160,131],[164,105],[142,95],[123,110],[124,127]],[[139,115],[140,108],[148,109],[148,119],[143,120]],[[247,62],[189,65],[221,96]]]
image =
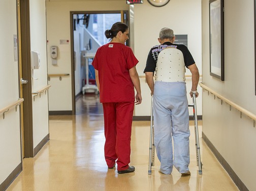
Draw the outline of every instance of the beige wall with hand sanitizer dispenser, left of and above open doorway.
[[[72,110],[72,73],[71,73],[71,47],[60,45],[59,40],[70,41],[70,12],[71,11],[112,11],[129,10],[125,1],[77,1],[77,2],[46,2],[47,11],[47,40],[49,48],[53,45],[59,48],[57,66],[51,64],[48,57],[48,73],[69,73],[68,77],[51,78],[49,84],[49,110]]]

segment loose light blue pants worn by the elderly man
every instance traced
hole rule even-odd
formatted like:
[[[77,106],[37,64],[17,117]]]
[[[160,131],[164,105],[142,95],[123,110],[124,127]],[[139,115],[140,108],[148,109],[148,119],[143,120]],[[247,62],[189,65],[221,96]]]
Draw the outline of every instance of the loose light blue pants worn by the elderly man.
[[[154,144],[161,172],[172,173],[173,165],[180,173],[187,172],[190,132],[185,83],[155,82],[153,120]]]

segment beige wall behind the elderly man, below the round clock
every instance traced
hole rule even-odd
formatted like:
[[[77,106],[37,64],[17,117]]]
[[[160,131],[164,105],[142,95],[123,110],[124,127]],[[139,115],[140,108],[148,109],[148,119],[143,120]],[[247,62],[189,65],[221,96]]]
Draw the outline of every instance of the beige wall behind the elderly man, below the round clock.
[[[191,14],[193,13],[193,14]],[[172,0],[164,7],[153,7],[147,1],[134,6],[134,51],[140,61],[137,70],[144,76],[147,55],[151,47],[158,45],[159,30],[169,27],[174,34],[187,34],[188,49],[198,65],[200,74],[202,68],[201,48],[201,0]],[[187,69],[187,75],[191,75]],[[186,78],[187,92],[191,90],[191,78]],[[136,116],[150,116],[151,96],[145,78],[141,78],[142,104],[136,105]],[[201,94],[201,88],[198,87]],[[188,97],[188,102],[192,99]],[[202,96],[197,100],[198,114],[202,115]],[[190,109],[189,109],[190,110]],[[193,112],[190,110],[190,114]]]

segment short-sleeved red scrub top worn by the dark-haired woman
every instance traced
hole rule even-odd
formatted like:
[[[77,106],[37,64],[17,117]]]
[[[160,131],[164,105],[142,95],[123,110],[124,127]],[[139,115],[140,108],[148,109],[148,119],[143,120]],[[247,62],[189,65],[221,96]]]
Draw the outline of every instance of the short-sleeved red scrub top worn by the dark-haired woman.
[[[129,69],[138,62],[132,49],[121,43],[108,43],[97,50],[92,65],[99,71],[102,103],[135,101]]]

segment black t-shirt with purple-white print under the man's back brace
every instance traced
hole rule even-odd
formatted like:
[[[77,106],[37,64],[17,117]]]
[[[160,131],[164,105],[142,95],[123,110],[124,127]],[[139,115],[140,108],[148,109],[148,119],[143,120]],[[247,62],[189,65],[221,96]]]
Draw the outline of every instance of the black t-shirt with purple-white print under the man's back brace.
[[[170,42],[165,42],[162,45],[156,45],[153,48],[151,48],[151,50],[148,53],[148,58],[147,58],[146,67],[144,69],[144,73],[146,71],[149,71],[149,72],[155,71],[158,54],[165,48],[175,48],[180,50],[183,54],[186,67],[192,64],[195,64],[195,61],[192,55],[190,54],[189,50],[185,45],[177,45],[177,44],[172,44]]]

